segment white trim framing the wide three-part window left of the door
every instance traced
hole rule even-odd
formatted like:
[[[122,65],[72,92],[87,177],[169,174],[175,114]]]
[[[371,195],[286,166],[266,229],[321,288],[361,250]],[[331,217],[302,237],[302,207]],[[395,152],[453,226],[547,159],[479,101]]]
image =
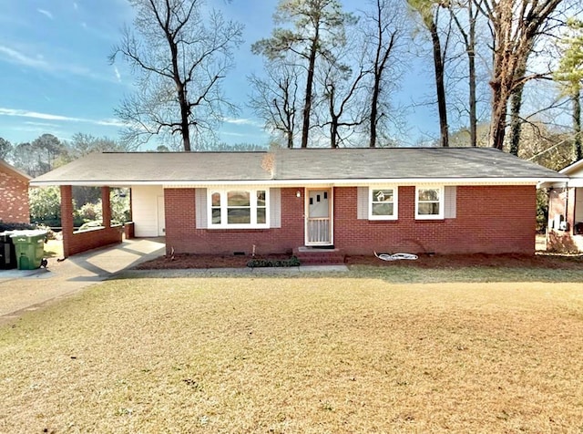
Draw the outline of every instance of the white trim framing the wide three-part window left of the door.
[[[246,191],[250,194],[250,209],[251,209],[251,223],[238,223],[229,224],[228,220],[228,193],[229,191]],[[257,192],[264,191],[265,193],[265,206],[257,205]],[[218,208],[212,206],[212,195],[215,193],[220,194],[220,223],[212,222],[212,209]],[[257,222],[257,210],[258,208],[265,208],[265,222]],[[230,188],[220,188],[220,189],[207,189],[207,228],[208,229],[269,229],[270,227],[270,189],[267,187],[259,188],[245,188],[239,186],[231,186]]]

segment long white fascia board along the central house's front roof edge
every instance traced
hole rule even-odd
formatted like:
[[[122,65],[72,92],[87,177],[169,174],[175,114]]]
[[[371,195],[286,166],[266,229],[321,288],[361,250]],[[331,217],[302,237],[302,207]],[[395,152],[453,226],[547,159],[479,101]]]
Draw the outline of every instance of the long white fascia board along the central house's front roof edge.
[[[371,184],[398,184],[398,185],[537,185],[541,182],[566,182],[567,178],[387,178],[387,179],[351,179],[351,180],[250,180],[250,181],[31,181],[31,187],[46,187],[51,185],[76,186],[118,186],[131,185],[162,185],[165,188],[207,187],[220,185],[267,185],[276,187],[334,187],[358,186]]]

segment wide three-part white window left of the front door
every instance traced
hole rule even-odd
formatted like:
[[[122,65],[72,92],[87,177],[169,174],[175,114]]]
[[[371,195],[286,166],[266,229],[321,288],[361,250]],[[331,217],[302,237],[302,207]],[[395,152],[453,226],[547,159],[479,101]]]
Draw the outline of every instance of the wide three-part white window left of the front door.
[[[268,227],[267,190],[210,190],[210,228]]]

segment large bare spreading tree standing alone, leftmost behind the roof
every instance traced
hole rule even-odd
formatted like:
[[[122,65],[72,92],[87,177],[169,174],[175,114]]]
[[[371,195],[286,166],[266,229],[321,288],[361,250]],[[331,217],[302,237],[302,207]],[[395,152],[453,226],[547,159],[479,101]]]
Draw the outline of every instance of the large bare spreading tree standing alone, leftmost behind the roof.
[[[191,150],[191,131],[211,130],[234,109],[220,92],[232,66],[242,26],[210,10],[202,0],[129,0],[134,29],[123,31],[110,61],[121,55],[137,75],[138,92],[117,110],[128,123],[125,137],[144,141],[160,133],[180,134]]]

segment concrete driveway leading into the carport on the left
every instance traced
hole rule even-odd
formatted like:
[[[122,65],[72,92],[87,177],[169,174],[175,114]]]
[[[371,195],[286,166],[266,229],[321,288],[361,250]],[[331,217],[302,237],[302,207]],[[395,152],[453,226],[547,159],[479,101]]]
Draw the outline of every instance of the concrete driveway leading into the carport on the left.
[[[62,262],[51,258],[47,268],[0,270],[0,324],[164,253],[163,238],[141,238],[77,254]]]

